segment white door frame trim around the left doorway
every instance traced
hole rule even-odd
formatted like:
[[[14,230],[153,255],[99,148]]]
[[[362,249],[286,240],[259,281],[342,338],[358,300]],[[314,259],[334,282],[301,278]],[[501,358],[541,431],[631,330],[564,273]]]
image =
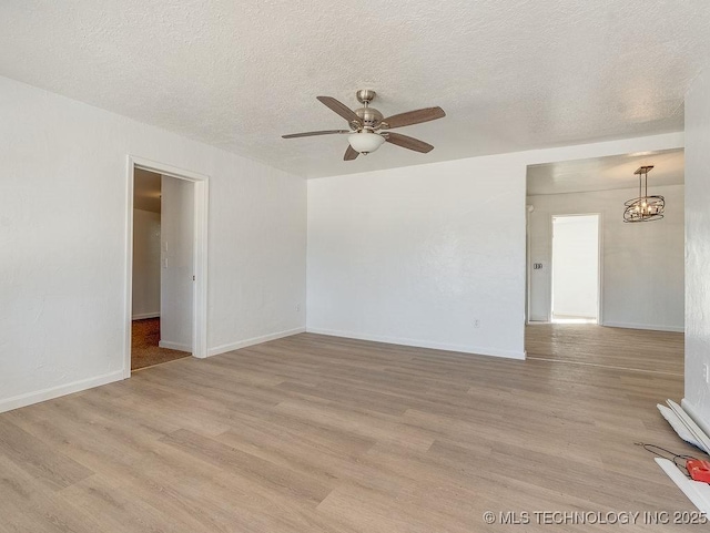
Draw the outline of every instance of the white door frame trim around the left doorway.
[[[193,183],[193,284],[192,355],[207,357],[207,221],[210,177],[135,155],[128,156],[125,214],[125,309],[123,336],[123,377],[131,377],[131,325],[133,321],[133,186],[135,168]]]

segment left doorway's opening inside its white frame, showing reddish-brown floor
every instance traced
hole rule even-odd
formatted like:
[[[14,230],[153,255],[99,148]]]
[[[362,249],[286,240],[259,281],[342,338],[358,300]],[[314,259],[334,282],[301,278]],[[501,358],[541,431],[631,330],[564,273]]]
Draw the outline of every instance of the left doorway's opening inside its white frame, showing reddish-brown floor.
[[[193,185],[134,171],[131,370],[192,355]]]

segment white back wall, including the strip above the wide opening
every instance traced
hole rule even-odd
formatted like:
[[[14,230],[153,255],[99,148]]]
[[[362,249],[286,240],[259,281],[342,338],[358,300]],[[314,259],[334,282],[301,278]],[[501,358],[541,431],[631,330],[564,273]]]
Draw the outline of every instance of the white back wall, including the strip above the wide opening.
[[[307,329],[524,357],[527,165],[682,145],[667,134],[311,180]]]

